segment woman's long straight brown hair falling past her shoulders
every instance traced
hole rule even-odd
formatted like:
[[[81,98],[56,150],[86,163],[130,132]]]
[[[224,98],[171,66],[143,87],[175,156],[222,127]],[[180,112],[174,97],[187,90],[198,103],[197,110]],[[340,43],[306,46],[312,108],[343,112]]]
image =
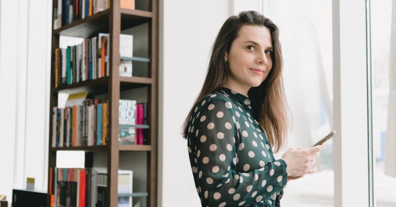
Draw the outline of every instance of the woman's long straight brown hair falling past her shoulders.
[[[271,146],[278,152],[287,137],[287,102],[285,98],[282,66],[283,58],[279,43],[278,27],[263,14],[257,11],[242,11],[238,15],[230,16],[220,28],[212,46],[211,57],[201,92],[193,106],[204,96],[224,86],[230,76],[230,68],[224,56],[231,49],[233,41],[243,25],[262,25],[269,29],[272,39],[273,55],[272,68],[258,87],[252,87],[248,95],[251,99],[253,116],[266,132]],[[188,135],[188,122],[193,113],[192,107],[183,124],[183,137]]]

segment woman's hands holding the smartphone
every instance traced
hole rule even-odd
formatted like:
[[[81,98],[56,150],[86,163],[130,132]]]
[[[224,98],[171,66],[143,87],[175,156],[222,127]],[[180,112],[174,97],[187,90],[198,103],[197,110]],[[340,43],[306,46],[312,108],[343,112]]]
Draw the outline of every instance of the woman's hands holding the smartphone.
[[[283,154],[282,160],[287,165],[287,176],[297,177],[316,172],[316,157],[324,149],[323,145],[302,149],[301,146],[292,147]]]

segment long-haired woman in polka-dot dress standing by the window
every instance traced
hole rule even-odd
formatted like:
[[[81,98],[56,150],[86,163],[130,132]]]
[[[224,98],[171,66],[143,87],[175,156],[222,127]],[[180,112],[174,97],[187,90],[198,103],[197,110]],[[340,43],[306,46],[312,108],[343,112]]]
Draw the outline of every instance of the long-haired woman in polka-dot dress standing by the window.
[[[289,180],[316,172],[323,146],[290,148],[277,26],[261,13],[229,17],[213,44],[183,136],[203,207],[279,206]]]

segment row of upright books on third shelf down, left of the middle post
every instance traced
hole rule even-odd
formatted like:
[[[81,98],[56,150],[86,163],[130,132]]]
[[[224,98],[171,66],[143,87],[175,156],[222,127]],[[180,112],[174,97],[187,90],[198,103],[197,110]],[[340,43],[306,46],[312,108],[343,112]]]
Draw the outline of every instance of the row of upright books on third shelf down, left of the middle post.
[[[101,146],[108,141],[108,101],[86,99],[82,105],[53,108],[52,147]]]

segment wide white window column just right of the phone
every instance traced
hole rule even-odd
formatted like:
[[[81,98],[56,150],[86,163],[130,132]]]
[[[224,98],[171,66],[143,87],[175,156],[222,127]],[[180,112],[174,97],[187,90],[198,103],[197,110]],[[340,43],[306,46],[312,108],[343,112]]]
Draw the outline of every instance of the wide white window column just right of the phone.
[[[333,0],[334,206],[369,206],[365,0]]]

